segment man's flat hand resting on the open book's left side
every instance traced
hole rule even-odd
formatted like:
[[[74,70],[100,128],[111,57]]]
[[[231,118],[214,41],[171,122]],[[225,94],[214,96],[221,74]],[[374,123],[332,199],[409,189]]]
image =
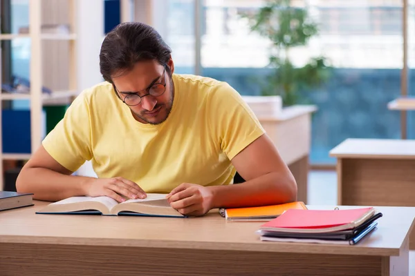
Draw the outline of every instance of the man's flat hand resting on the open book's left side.
[[[92,179],[86,184],[85,193],[89,197],[111,197],[118,202],[125,201],[124,197],[130,199],[147,197],[145,191],[138,184],[122,177]]]

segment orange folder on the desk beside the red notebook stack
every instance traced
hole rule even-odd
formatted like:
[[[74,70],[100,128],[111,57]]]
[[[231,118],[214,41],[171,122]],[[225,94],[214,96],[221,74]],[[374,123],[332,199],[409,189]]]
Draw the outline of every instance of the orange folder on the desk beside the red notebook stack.
[[[307,207],[304,202],[295,201],[270,206],[229,208],[225,210],[225,218],[228,221],[268,221],[282,215],[288,209],[307,210]]]

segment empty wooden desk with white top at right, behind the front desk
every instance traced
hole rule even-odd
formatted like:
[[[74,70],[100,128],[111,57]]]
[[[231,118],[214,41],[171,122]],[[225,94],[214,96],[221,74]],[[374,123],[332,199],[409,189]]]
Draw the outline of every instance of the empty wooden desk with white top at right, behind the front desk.
[[[337,157],[338,204],[415,206],[415,141],[346,139]],[[415,249],[415,231],[411,235]]]

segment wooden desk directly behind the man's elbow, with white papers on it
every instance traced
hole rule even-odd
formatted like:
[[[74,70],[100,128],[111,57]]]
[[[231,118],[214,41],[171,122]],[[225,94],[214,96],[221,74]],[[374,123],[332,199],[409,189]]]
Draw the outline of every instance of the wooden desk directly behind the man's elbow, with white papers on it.
[[[279,115],[258,116],[270,139],[297,181],[297,199],[307,202],[308,155],[311,147],[311,115],[315,106],[291,106]]]

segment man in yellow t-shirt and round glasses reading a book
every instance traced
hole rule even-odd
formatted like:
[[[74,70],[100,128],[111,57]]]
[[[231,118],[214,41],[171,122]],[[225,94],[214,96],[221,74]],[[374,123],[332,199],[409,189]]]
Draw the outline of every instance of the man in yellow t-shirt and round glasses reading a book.
[[[294,201],[295,179],[227,83],[174,74],[170,48],[143,23],[122,23],[100,52],[105,82],[83,91],[17,179],[35,199],[167,193],[179,212]],[[97,178],[71,175],[91,160]],[[232,184],[238,171],[246,182]]]

